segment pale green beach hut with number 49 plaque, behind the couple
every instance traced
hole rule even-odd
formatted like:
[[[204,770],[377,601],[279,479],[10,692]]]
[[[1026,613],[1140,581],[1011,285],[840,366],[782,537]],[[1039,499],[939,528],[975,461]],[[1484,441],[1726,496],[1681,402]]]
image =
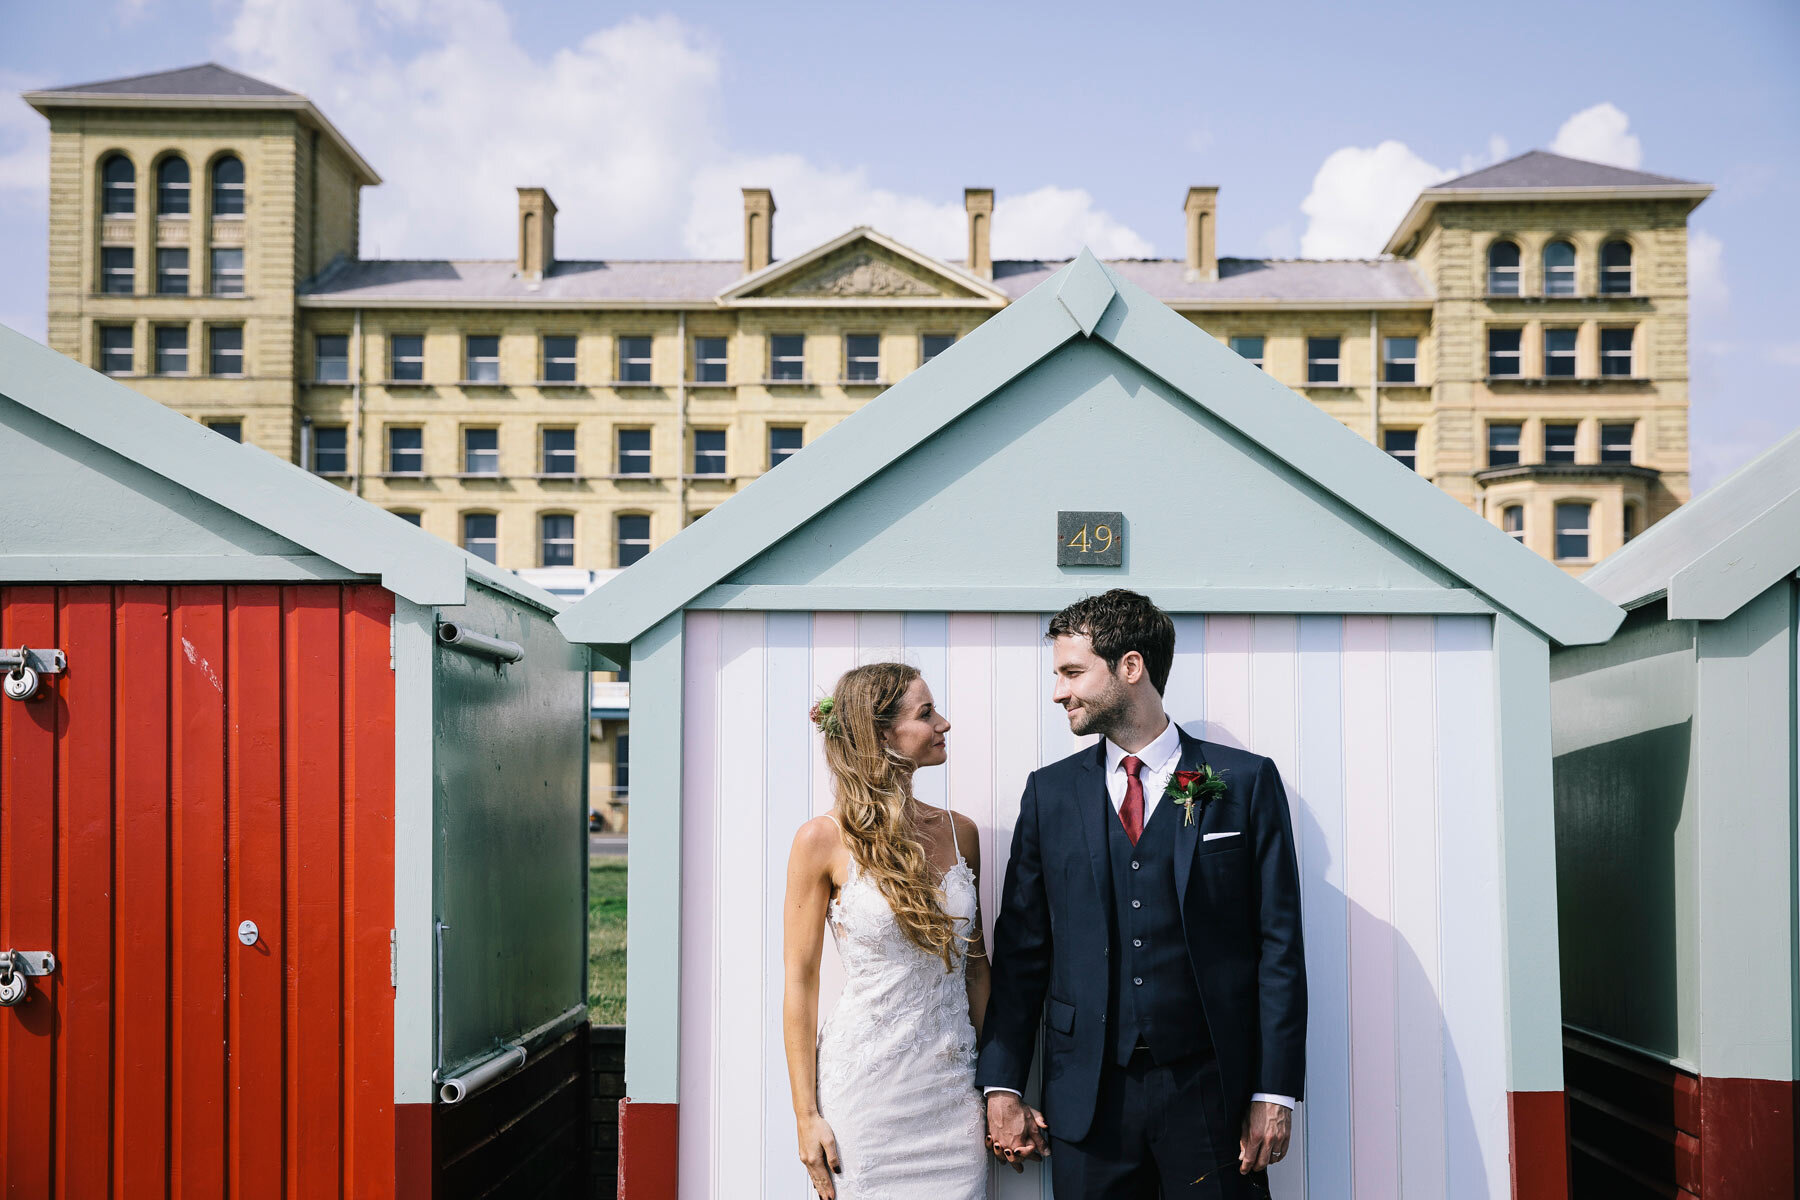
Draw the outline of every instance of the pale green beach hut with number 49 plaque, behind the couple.
[[[1278,1193],[1566,1195],[1548,651],[1622,613],[1085,252],[558,617],[632,664],[621,1195],[806,1195],[779,910],[830,804],[808,703],[923,669],[956,729],[920,786],[981,826],[992,919],[1026,772],[1076,748],[1046,613],[1109,587],[1175,617],[1175,720],[1292,802]]]

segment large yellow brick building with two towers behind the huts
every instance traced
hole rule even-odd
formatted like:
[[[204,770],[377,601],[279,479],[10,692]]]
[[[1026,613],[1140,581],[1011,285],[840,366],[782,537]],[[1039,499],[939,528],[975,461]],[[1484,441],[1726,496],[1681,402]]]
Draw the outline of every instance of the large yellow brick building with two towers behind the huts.
[[[855,228],[776,263],[763,189],[742,261],[562,261],[536,187],[511,261],[369,261],[380,178],[302,95],[205,65],[25,99],[50,122],[54,347],[569,590],[1062,264],[992,259],[986,189],[959,261]],[[1688,498],[1710,191],[1532,151],[1420,193],[1381,257],[1294,261],[1217,257],[1195,187],[1183,257],[1111,266],[1580,572]],[[596,714],[599,792],[623,698]]]

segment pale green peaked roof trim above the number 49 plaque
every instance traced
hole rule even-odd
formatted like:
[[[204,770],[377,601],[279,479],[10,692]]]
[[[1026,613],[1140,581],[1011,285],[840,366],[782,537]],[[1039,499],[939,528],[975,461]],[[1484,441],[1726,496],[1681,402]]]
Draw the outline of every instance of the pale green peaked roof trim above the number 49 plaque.
[[[1089,252],[558,617],[576,642],[623,646],[819,518],[1008,381],[1091,336],[1364,520],[1562,644],[1606,640],[1624,613],[1303,396],[1235,358]],[[1247,372],[1247,387],[1220,376]],[[1271,403],[1276,401],[1276,403]],[[853,502],[853,500],[851,500]]]

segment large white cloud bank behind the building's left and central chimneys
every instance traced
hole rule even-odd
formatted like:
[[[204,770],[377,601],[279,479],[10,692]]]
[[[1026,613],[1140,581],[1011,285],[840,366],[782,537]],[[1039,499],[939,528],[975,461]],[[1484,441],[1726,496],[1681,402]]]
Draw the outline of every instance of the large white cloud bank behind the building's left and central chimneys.
[[[389,47],[401,47],[392,50]],[[364,254],[508,257],[515,189],[560,205],[565,257],[743,252],[740,187],[776,194],[776,254],[855,225],[961,257],[961,196],[877,187],[866,166],[724,144],[724,61],[671,16],[596,29],[551,56],[518,45],[497,0],[243,0],[223,50],[306,92],[387,180],[365,193]],[[999,196],[995,255],[1147,254],[1082,191]]]

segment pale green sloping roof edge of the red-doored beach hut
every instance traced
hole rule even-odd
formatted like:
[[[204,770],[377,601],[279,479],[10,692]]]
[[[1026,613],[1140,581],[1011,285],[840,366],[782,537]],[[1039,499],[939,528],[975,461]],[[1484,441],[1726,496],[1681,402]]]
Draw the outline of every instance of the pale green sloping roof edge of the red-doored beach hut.
[[[0,396],[416,604],[468,579],[545,612],[562,601],[292,462],[220,437],[117,380],[0,326]]]

